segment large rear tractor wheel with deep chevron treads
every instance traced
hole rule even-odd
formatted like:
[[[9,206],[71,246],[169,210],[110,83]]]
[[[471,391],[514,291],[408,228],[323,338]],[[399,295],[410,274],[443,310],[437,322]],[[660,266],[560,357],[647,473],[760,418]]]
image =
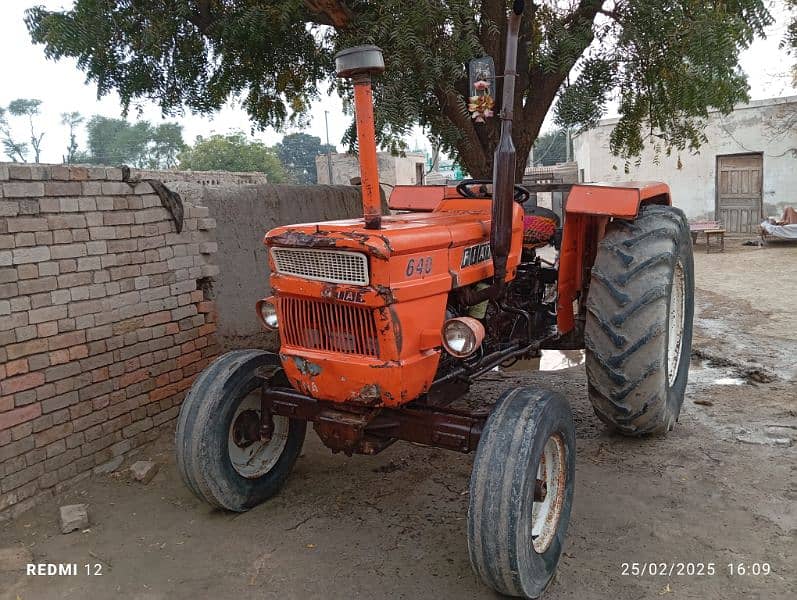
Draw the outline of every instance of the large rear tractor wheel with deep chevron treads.
[[[606,227],[592,268],[586,346],[589,398],[612,429],[671,430],[681,411],[694,317],[689,225],[671,206],[642,206]]]

